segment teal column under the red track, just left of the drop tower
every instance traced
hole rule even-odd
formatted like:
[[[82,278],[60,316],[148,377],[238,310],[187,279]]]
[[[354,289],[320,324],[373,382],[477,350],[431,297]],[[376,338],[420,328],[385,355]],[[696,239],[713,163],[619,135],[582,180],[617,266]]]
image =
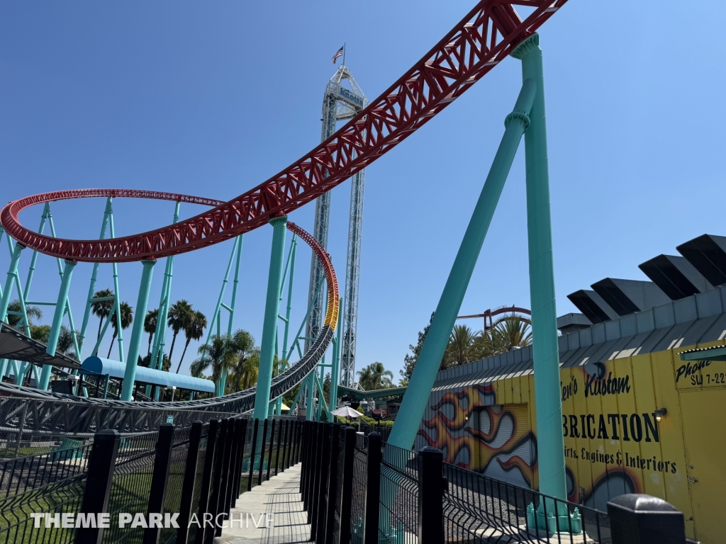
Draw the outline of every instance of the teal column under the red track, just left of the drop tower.
[[[280,314],[280,284],[282,283],[282,265],[285,260],[285,233],[287,216],[273,218],[272,252],[270,269],[267,278],[267,297],[265,317],[262,325],[262,341],[260,343],[260,366],[257,374],[257,390],[255,392],[254,419],[267,419],[267,408],[270,402],[272,385],[272,363],[274,360],[274,339],[277,336],[277,316]]]

